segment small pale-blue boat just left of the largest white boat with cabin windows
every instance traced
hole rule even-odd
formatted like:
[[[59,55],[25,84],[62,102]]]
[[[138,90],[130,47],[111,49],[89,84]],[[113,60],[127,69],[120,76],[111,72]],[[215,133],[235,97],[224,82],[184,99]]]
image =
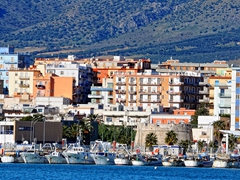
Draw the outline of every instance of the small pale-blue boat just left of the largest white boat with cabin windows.
[[[49,164],[66,164],[67,160],[56,147],[56,144],[53,144],[54,151],[50,154],[45,155]]]

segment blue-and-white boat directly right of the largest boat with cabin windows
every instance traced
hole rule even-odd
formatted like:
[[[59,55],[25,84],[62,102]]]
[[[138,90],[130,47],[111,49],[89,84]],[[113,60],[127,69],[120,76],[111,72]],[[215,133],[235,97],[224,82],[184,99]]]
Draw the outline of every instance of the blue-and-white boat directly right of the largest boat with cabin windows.
[[[91,157],[97,165],[114,165],[116,152],[113,150],[111,143],[96,140],[91,149]]]

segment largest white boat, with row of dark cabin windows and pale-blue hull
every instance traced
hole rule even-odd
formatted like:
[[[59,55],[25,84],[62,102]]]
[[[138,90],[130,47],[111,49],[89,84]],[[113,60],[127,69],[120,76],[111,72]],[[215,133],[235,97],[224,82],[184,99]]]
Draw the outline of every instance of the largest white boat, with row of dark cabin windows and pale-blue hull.
[[[63,151],[62,155],[68,164],[94,164],[89,149],[81,146],[79,143],[70,144],[69,147]]]

